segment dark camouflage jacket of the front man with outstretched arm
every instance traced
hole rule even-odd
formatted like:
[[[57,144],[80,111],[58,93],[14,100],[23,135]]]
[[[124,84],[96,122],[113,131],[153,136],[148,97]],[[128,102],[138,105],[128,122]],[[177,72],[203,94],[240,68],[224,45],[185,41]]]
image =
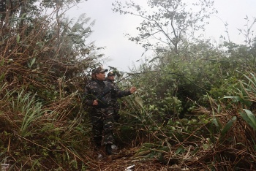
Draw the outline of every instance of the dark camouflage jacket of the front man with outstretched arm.
[[[99,104],[93,107],[105,108],[113,105],[116,98],[130,94],[129,91],[120,91],[108,81],[95,80],[85,87],[84,102],[87,106],[93,106],[93,101],[97,99]]]

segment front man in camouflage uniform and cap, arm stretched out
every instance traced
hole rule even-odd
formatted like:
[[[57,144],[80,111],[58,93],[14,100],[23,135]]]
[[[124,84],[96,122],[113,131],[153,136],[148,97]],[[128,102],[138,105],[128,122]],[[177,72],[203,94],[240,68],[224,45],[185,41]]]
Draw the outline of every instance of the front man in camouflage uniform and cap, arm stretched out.
[[[137,88],[132,87],[129,91],[120,91],[105,80],[105,72],[99,66],[95,70],[95,80],[85,88],[85,104],[91,106],[90,117],[94,142],[99,148],[103,142],[108,154],[112,153],[113,144],[113,98],[133,94]]]

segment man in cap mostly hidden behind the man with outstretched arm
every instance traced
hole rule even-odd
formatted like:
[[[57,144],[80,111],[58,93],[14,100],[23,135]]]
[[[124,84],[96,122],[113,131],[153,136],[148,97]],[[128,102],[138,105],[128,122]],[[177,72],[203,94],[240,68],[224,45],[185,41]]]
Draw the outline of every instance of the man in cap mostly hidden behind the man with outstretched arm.
[[[109,83],[111,83],[113,86],[116,87],[116,89],[119,90],[118,86],[114,83],[115,81],[115,73],[114,72],[108,72],[108,77],[106,77],[106,81],[108,81]],[[120,118],[120,115],[118,114],[119,110],[120,110],[120,105],[118,103],[118,98],[113,98],[113,118],[115,122],[118,122],[118,119]]]

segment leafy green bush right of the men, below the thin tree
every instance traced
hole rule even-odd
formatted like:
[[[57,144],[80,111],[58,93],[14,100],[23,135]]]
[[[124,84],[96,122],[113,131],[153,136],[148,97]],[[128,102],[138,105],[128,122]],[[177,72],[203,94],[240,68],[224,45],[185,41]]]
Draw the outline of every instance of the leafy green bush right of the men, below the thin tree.
[[[244,66],[254,61],[251,57],[240,63],[236,56],[227,56],[225,50],[214,49],[207,41],[191,44],[187,50],[179,56],[161,53],[161,58],[146,59],[140,69],[132,71],[140,75],[131,75],[129,84],[136,83],[144,107],[156,115],[183,118],[196,105],[208,107],[206,94],[214,99],[233,96],[234,89],[240,86],[238,80],[244,79],[242,73],[247,72]],[[173,98],[176,102],[170,101]]]

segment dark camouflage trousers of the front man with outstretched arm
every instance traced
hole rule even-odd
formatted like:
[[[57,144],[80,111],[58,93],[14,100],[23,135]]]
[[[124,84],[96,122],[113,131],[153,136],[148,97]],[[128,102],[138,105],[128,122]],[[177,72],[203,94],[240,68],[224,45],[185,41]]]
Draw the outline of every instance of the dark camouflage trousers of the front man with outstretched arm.
[[[113,107],[94,108],[90,116],[96,145],[113,144]]]

